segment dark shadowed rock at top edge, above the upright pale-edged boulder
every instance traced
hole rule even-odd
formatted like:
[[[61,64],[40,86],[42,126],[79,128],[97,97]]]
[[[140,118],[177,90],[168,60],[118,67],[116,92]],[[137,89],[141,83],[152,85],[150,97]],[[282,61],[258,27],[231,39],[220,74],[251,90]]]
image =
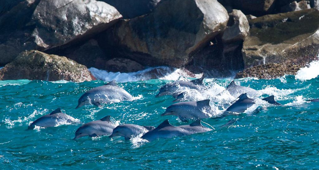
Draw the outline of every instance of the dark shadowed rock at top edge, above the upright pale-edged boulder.
[[[275,0],[219,0],[223,5],[244,11],[245,14],[261,16],[271,12]]]

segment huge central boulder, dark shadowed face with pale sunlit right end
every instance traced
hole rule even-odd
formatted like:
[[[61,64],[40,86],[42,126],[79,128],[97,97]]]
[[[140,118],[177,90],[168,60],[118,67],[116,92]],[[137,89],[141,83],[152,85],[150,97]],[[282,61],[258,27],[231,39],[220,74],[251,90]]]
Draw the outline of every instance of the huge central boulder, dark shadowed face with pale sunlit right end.
[[[142,65],[181,67],[227,21],[227,11],[216,0],[162,0],[152,13],[115,24],[100,41],[112,52],[119,47],[118,57]]]

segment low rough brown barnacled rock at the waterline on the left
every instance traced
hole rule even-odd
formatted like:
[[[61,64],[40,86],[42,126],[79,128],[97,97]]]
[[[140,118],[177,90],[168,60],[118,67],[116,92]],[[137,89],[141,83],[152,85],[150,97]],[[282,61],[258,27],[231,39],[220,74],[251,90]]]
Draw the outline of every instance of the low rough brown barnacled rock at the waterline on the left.
[[[0,70],[0,80],[68,80],[74,82],[95,79],[84,65],[40,51],[26,51]]]

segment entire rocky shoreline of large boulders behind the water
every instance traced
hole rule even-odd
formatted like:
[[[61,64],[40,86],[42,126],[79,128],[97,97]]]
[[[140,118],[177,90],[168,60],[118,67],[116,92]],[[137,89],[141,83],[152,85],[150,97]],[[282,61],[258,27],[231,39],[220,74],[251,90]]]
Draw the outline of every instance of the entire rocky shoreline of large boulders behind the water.
[[[0,80],[82,82],[94,79],[89,67],[149,66],[183,68],[189,77],[239,70],[236,78],[277,78],[316,58],[318,9],[317,0],[4,0]]]

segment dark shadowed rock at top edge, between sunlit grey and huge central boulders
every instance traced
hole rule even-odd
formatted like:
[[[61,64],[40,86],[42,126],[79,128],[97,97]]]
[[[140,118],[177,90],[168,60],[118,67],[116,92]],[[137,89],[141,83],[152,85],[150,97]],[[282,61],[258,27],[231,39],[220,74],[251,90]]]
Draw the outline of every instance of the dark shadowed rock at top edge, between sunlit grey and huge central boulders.
[[[100,0],[114,6],[124,19],[150,13],[160,0]]]

